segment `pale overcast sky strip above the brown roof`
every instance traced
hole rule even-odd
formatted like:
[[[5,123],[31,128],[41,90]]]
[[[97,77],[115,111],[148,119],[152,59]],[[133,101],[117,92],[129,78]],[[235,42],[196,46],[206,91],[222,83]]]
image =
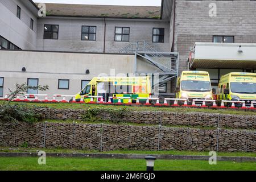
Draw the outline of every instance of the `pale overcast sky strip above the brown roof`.
[[[161,0],[33,0],[44,3],[67,3],[83,5],[161,6]]]

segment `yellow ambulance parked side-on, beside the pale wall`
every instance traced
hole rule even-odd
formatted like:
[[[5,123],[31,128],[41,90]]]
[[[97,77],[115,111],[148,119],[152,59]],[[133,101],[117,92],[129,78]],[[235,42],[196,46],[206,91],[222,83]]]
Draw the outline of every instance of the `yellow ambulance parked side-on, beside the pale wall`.
[[[84,89],[76,95],[76,101],[79,102],[81,96],[103,96],[104,101],[108,102],[109,97],[130,97],[133,103],[137,97],[150,97],[151,84],[150,77],[94,77]],[[90,98],[84,98],[85,103],[90,102]],[[97,98],[94,98],[97,101]],[[142,103],[145,100],[140,100]],[[112,99],[117,103],[118,99]],[[129,102],[129,99],[121,99],[123,104]]]

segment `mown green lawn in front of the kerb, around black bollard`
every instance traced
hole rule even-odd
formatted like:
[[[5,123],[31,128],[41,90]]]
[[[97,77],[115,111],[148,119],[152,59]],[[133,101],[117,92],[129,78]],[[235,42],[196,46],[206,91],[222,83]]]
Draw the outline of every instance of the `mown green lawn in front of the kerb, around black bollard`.
[[[33,171],[145,171],[145,160],[131,159],[81,159],[81,158],[50,158],[46,165],[39,165],[38,158],[0,158],[0,170],[33,170]],[[187,171],[187,170],[255,170],[254,162],[217,162],[209,165],[201,160],[156,160],[156,171]]]

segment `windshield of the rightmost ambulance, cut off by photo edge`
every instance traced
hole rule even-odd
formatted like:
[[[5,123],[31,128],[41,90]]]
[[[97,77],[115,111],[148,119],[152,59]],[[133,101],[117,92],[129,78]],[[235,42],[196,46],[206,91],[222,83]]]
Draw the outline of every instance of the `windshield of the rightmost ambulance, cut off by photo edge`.
[[[233,93],[256,94],[256,83],[231,82],[230,89]]]

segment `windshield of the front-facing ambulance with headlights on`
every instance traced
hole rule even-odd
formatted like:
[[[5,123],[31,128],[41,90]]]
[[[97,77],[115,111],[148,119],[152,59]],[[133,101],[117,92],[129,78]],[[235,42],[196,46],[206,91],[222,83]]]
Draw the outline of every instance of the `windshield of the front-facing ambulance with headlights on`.
[[[185,80],[181,81],[181,89],[188,92],[210,92],[210,82]]]

